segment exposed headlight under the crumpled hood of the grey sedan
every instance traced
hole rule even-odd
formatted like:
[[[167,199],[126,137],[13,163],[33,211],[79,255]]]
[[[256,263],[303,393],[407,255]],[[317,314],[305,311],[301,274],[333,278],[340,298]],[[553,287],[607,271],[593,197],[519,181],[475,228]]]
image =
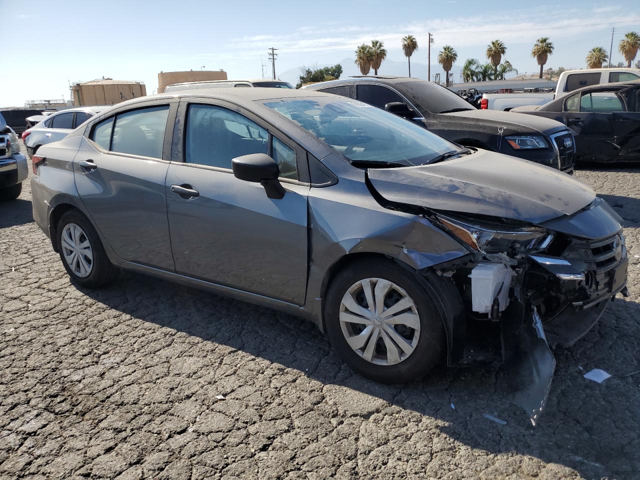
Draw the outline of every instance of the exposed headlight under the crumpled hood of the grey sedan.
[[[545,228],[512,227],[497,222],[438,215],[442,224],[473,250],[487,253],[532,252],[546,248],[553,238]]]

